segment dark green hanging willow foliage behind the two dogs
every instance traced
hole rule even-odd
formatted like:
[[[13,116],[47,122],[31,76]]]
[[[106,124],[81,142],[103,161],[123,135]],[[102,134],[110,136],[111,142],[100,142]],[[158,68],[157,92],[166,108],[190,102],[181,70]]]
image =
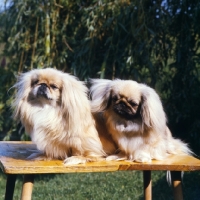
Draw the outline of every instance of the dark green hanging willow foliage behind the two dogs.
[[[1,67],[7,77],[0,80],[1,131],[21,130],[12,125],[5,92],[13,74],[50,66],[81,80],[149,84],[161,95],[173,134],[200,154],[199,17],[198,0],[11,0],[0,15],[7,62]]]

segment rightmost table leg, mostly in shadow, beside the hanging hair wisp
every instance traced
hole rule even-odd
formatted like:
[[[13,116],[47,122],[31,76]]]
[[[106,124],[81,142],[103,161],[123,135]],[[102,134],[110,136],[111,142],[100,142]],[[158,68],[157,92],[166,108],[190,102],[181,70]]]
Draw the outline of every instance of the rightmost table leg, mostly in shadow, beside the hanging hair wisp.
[[[180,171],[171,171],[172,187],[175,200],[183,200],[182,177]]]

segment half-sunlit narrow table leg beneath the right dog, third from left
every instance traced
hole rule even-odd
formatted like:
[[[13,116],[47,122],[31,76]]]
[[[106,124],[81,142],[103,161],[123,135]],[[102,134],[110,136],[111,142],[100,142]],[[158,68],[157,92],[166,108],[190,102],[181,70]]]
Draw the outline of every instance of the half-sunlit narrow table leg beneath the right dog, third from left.
[[[143,171],[143,184],[144,184],[144,199],[152,199],[152,183],[151,183],[151,171]]]

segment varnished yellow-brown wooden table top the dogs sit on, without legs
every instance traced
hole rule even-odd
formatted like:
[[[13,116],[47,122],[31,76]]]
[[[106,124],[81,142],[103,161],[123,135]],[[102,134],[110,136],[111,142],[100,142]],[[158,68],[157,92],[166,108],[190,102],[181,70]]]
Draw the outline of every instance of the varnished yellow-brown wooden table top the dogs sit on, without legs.
[[[0,141],[0,167],[6,174],[44,174],[75,172],[110,172],[128,170],[200,170],[200,160],[187,155],[172,155],[165,160],[151,163],[131,161],[99,161],[64,166],[62,160],[34,161],[26,158],[37,152],[32,142]]]

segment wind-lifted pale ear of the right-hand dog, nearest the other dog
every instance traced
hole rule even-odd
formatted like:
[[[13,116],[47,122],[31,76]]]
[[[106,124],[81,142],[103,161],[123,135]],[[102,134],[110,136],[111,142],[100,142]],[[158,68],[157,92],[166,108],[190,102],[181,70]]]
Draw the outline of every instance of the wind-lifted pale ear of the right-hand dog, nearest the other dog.
[[[104,111],[110,102],[111,95],[111,80],[106,79],[90,79],[91,88],[90,96],[92,99],[92,112]]]

